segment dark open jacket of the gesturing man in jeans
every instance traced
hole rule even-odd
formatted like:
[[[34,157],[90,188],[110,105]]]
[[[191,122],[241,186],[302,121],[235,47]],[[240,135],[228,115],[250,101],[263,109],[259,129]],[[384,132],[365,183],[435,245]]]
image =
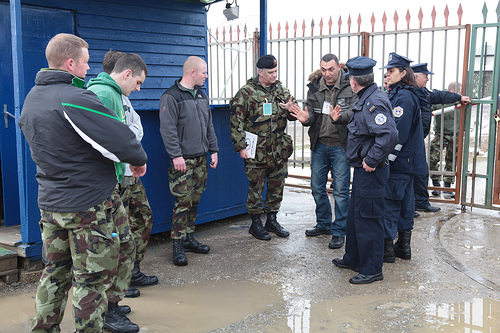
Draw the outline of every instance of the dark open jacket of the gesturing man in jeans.
[[[335,91],[335,101],[332,104],[339,105],[342,109],[340,118],[334,122],[337,125],[339,131],[340,141],[342,148],[346,149],[347,144],[347,124],[352,116],[352,105],[357,100],[356,94],[352,91],[351,85],[349,84],[349,79],[344,77],[345,71],[341,69],[339,71],[340,75],[340,87],[334,88]],[[317,70],[309,76],[310,83],[307,85],[309,91],[307,92],[307,111],[309,113],[309,119],[303,123],[304,126],[309,127],[309,138],[311,141],[311,150],[314,150],[316,143],[319,139],[319,133],[321,130],[321,125],[323,122],[323,103],[325,102],[325,90],[326,85],[324,84],[323,75],[321,70]],[[325,88],[322,89],[322,86]],[[331,118],[330,118],[331,120]]]

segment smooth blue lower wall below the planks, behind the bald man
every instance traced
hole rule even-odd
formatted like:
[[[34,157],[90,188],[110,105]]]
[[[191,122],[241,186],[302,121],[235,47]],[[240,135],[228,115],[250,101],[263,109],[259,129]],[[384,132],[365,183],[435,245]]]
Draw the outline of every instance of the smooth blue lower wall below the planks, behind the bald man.
[[[142,144],[148,154],[148,171],[142,178],[153,209],[153,233],[170,230],[174,198],[168,187],[170,159],[159,131],[158,112],[139,112],[145,128]],[[243,160],[234,152],[229,139],[228,107],[212,110],[219,144],[219,165],[209,168],[207,188],[198,206],[196,224],[214,221],[246,212],[248,181]]]

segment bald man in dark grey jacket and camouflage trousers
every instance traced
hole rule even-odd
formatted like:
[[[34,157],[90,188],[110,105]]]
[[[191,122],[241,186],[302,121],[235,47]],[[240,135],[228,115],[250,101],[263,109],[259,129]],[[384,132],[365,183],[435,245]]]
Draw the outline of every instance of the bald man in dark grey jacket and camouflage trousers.
[[[207,63],[191,56],[182,71],[182,78],[160,99],[160,133],[171,158],[168,178],[175,197],[170,238],[176,266],[187,265],[186,251],[210,251],[208,245],[194,238],[194,225],[207,185],[207,154],[210,153],[210,167],[215,169],[219,151],[208,96],[201,90],[208,77]]]

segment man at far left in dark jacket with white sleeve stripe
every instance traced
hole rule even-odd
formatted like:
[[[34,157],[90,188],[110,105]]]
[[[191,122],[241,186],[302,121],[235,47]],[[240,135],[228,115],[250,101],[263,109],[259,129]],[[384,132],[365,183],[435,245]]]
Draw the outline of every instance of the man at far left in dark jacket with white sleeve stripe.
[[[140,177],[147,156],[128,126],[81,89],[87,42],[58,34],[45,52],[50,68],[38,72],[19,118],[37,165],[45,264],[31,330],[60,330],[73,286],[76,332],[102,332],[106,291],[118,266],[114,219],[125,218],[114,162],[130,163]]]

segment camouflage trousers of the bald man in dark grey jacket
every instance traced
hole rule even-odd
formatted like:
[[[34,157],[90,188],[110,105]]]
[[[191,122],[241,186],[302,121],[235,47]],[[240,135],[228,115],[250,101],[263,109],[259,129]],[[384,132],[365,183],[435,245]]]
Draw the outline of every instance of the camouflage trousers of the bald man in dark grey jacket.
[[[207,187],[207,157],[186,158],[186,172],[168,169],[170,192],[174,196],[170,238],[181,239],[194,232],[201,194]]]

